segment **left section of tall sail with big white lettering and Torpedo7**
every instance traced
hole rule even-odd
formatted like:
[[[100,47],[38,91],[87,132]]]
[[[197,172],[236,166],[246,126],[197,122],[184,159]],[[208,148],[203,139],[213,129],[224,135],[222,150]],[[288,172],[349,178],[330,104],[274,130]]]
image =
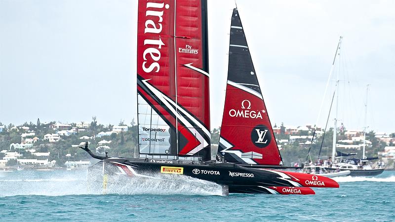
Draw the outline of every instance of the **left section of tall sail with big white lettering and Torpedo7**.
[[[177,154],[174,0],[139,0],[137,30],[140,153]]]

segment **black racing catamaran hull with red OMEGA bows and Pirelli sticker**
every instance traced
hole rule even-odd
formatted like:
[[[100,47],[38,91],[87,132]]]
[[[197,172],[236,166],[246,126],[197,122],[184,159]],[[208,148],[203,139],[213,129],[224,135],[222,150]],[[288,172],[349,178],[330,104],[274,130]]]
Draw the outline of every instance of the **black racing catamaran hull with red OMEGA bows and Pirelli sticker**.
[[[225,193],[314,194],[309,187],[339,187],[335,181],[322,176],[246,168],[233,163],[185,164],[174,160],[108,158],[91,168],[109,176],[125,175],[155,180],[167,180],[162,177],[166,175],[172,175],[171,180],[188,176],[222,185]]]

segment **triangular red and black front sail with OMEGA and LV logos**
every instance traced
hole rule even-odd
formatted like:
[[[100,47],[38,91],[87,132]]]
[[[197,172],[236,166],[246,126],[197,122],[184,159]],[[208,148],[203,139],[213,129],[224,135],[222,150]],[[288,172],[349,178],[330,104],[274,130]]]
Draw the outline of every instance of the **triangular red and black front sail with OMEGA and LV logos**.
[[[282,165],[237,9],[233,10],[228,81],[217,159]]]

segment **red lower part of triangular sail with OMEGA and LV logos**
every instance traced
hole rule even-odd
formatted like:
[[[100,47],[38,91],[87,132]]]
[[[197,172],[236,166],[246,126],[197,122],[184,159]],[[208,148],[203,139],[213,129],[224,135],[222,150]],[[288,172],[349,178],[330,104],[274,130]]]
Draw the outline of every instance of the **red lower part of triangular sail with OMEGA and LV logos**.
[[[220,148],[230,162],[280,165],[276,139],[265,102],[227,84]]]

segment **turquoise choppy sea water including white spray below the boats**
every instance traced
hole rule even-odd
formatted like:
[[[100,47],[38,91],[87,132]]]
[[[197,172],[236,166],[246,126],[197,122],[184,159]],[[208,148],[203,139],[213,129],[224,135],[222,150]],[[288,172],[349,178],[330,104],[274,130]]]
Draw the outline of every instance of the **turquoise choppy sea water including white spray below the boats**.
[[[221,196],[190,178],[103,190],[84,170],[0,172],[0,221],[395,221],[395,172],[335,180],[316,195]]]

